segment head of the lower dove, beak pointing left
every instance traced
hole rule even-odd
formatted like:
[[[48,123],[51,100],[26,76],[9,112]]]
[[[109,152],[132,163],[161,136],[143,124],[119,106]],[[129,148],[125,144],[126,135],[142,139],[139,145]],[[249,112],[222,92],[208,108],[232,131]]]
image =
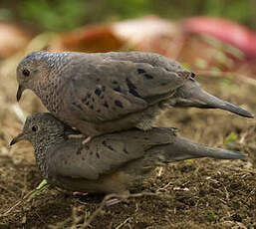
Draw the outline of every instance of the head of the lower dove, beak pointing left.
[[[22,132],[13,138],[10,145],[23,139],[30,141],[35,148],[56,144],[66,138],[66,128],[67,125],[52,114],[32,114],[27,117]]]

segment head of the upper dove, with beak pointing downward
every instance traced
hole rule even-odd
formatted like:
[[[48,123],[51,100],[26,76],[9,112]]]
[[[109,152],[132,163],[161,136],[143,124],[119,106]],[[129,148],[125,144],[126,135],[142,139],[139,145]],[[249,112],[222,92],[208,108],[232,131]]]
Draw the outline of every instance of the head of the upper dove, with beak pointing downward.
[[[21,99],[26,89],[37,94],[41,88],[47,88],[47,84],[57,77],[56,73],[65,65],[64,59],[67,55],[68,53],[36,51],[26,56],[17,67],[17,101]]]

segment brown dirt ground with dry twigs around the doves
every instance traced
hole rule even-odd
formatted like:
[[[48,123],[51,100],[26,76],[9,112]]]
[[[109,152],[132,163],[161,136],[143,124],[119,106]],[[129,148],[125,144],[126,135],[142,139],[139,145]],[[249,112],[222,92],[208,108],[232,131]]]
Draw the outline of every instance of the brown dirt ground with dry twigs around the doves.
[[[23,117],[15,107],[15,74],[4,73],[0,85],[0,229],[84,228],[103,195],[74,197],[54,187],[30,195],[42,178],[29,143],[8,146],[21,130]],[[197,80],[213,95],[256,114],[256,86],[206,76]],[[25,93],[21,108],[25,115],[44,111],[31,92]],[[159,117],[159,125],[176,126],[181,135],[201,143],[242,150],[250,159],[202,158],[156,168],[134,190],[152,195],[104,207],[90,228],[256,228],[255,118],[217,110],[173,109]],[[231,132],[227,145],[224,140]]]

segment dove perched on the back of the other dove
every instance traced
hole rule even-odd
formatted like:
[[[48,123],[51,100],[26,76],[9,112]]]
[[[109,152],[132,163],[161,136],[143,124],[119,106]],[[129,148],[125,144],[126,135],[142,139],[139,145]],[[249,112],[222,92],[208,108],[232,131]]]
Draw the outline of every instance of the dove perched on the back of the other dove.
[[[33,52],[19,64],[17,80],[17,101],[30,89],[52,114],[89,136],[150,129],[154,116],[169,107],[253,117],[200,89],[177,62],[152,53]]]

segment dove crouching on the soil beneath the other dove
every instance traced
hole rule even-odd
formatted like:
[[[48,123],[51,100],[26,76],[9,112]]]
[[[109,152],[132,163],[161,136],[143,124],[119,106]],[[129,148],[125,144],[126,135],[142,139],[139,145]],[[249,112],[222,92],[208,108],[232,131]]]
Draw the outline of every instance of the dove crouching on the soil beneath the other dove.
[[[137,128],[94,137],[69,138],[77,131],[52,114],[33,114],[10,144],[29,140],[36,162],[49,183],[80,192],[126,193],[157,165],[213,157],[242,159],[239,151],[204,146],[181,136],[173,128]]]

